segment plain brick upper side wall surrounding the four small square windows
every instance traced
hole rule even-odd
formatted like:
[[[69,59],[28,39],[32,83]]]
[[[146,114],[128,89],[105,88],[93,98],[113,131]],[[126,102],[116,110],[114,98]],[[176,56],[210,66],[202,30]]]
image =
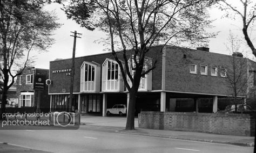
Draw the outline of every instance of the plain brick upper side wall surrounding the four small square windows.
[[[165,90],[231,96],[231,85],[220,76],[221,67],[231,67],[231,60],[230,55],[167,46]],[[190,74],[190,63],[197,64],[197,74]],[[207,65],[207,75],[200,74],[200,64]],[[211,76],[211,65],[218,67],[218,76]]]

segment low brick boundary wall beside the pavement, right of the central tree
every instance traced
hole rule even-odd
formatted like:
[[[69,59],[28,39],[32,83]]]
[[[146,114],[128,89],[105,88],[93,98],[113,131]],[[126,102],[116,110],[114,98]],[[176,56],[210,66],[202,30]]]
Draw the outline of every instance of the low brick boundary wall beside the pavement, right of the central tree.
[[[192,112],[140,112],[139,127],[225,135],[254,136],[252,114],[214,114]]]

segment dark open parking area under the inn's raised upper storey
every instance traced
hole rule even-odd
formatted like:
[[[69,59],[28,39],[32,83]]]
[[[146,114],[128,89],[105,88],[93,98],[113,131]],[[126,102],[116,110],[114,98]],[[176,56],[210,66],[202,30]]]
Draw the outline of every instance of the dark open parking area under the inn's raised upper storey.
[[[140,111],[159,112],[201,112],[215,113],[219,108],[223,109],[227,104],[221,104],[226,95],[197,94],[178,92],[139,92],[136,101],[136,115]],[[243,98],[240,98],[240,101]],[[221,103],[218,103],[221,101]],[[104,93],[103,94],[103,116],[106,108],[112,108],[115,104],[129,103],[129,93]]]

